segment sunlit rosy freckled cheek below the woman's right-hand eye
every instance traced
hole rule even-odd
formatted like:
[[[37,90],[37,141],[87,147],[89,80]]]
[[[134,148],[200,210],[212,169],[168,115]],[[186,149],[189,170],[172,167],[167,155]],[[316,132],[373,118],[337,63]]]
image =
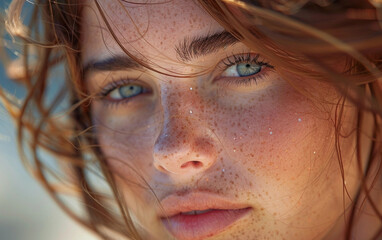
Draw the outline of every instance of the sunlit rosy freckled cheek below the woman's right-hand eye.
[[[220,106],[218,120],[211,123],[222,139],[224,161],[276,186],[295,184],[302,175],[322,170],[325,164],[320,163],[327,161],[328,147],[334,146],[328,112],[317,110],[311,100],[287,87],[244,102]]]

